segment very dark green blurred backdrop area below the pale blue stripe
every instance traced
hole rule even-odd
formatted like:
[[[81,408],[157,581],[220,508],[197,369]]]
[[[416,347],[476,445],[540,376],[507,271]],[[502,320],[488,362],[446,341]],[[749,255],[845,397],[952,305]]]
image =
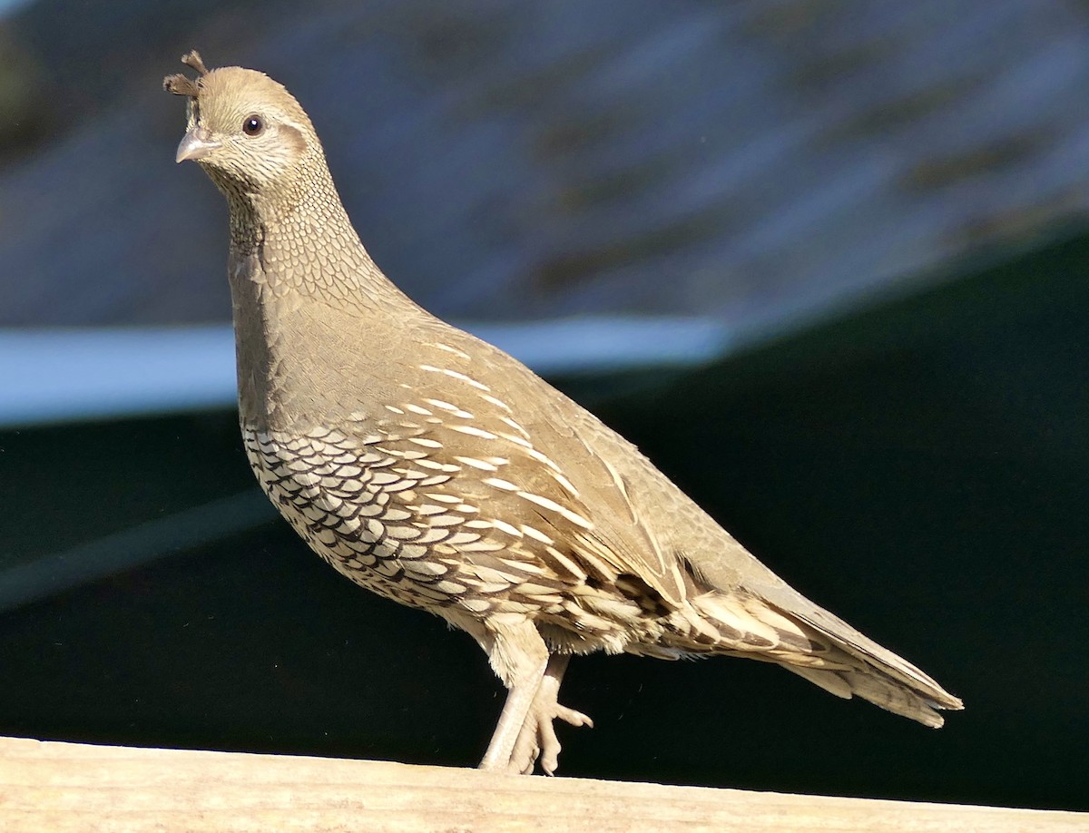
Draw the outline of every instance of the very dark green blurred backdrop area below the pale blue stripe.
[[[563,774],[1089,809],[1087,245],[698,371],[559,380],[967,706],[932,732],[755,662],[578,659],[597,726],[560,730]],[[8,567],[256,488],[230,413],[12,431],[0,465]],[[470,765],[502,703],[468,637],[271,515],[0,613],[0,733],[117,744]]]

